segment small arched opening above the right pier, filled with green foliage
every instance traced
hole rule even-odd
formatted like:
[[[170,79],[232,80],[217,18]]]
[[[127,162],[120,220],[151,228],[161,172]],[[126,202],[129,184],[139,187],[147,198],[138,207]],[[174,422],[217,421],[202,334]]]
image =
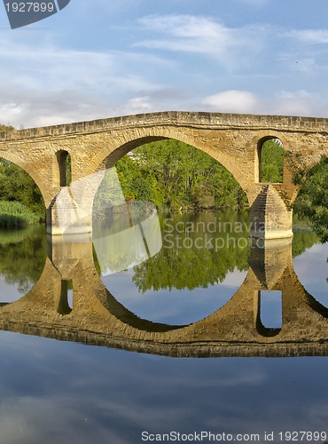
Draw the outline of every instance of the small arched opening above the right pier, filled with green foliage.
[[[258,141],[259,182],[284,182],[284,155],[284,144],[277,136],[266,136]]]

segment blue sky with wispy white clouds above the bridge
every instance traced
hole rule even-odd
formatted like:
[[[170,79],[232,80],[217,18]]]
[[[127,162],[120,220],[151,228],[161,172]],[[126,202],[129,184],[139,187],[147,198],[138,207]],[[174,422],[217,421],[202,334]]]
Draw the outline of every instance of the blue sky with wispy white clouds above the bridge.
[[[328,117],[327,0],[71,0],[11,29],[0,123],[157,111]]]

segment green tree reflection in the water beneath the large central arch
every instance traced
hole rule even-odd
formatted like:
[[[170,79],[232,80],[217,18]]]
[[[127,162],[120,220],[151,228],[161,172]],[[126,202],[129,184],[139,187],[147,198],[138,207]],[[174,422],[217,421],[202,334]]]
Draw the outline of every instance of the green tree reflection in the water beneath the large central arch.
[[[207,288],[236,268],[248,269],[248,212],[174,213],[160,219],[162,249],[133,268],[140,292]]]

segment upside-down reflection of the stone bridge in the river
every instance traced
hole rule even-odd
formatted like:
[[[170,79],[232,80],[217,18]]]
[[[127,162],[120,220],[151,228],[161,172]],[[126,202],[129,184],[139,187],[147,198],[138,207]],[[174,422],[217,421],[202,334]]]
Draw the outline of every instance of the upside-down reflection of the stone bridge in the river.
[[[328,355],[328,309],[295,274],[291,240],[252,245],[246,279],[229,302],[184,326],[143,320],[121,305],[99,277],[90,234],[48,241],[43,274],[26,296],[0,306],[0,329],[176,357]],[[279,329],[262,322],[263,291],[281,293]]]

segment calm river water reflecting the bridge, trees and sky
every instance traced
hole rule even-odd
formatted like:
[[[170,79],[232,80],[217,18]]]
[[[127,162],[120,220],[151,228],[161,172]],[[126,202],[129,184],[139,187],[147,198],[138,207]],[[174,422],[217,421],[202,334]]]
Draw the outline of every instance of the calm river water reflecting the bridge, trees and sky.
[[[247,214],[162,216],[160,243],[111,226],[1,232],[0,443],[328,434],[327,244],[257,248]]]

